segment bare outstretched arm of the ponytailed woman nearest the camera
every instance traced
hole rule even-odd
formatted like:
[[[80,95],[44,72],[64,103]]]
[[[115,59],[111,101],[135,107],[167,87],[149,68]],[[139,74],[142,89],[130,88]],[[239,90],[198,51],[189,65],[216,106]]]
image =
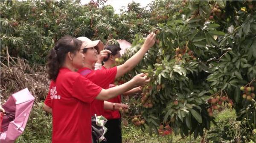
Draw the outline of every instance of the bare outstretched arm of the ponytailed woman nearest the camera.
[[[102,89],[102,91],[98,94],[96,99],[98,100],[109,100],[113,97],[118,96],[119,94],[122,94],[136,86],[144,85],[145,83],[148,83],[150,79],[147,79],[147,76],[143,73],[137,74],[133,79],[130,81],[120,85],[115,86],[110,89]]]

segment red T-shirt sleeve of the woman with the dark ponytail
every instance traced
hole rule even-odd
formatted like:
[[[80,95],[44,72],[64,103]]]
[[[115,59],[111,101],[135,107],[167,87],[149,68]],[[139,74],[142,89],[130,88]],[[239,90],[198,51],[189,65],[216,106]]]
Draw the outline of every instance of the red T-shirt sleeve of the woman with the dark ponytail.
[[[101,92],[102,88],[79,75],[72,88],[72,96],[86,103],[91,103]]]

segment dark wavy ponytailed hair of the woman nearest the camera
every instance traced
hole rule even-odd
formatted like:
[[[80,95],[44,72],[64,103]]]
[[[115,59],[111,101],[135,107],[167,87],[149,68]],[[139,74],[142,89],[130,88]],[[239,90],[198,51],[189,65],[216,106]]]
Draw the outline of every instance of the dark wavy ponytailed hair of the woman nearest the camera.
[[[64,36],[55,43],[54,48],[49,51],[47,56],[47,74],[50,80],[56,80],[66,54],[68,52],[75,53],[79,51],[81,45],[82,42],[72,36]]]

